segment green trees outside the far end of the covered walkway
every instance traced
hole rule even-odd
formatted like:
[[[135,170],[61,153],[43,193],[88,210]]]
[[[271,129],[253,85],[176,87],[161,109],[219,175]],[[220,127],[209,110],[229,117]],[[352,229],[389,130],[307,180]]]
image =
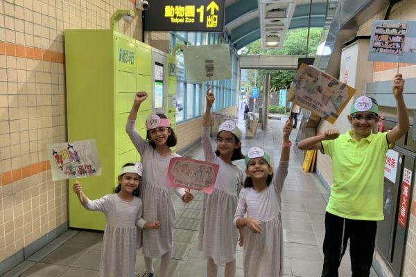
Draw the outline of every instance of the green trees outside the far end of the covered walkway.
[[[309,49],[308,55],[315,55],[318,45],[320,43],[320,37],[322,28],[311,28],[309,32]],[[264,50],[261,49],[260,39],[256,42],[252,42],[245,49],[241,51],[241,55],[305,55],[306,54],[306,37],[308,34],[307,28],[289,30],[284,39],[284,44],[277,50]],[[248,70],[247,87],[258,87],[260,91],[263,89],[263,75],[270,74],[270,87],[273,89],[286,89],[291,84],[295,77],[296,71],[294,70],[257,70],[257,76],[255,70]],[[256,80],[256,84],[254,84]],[[249,93],[250,94],[250,93]]]

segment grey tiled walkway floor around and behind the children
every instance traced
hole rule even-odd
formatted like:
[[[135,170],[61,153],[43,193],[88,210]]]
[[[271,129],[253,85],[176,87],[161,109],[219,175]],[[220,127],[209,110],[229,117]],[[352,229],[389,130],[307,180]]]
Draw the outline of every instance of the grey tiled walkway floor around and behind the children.
[[[277,164],[281,151],[281,129],[285,122],[285,117],[270,120],[267,131],[259,129],[255,139],[243,139],[243,153],[247,153],[254,145],[259,146],[266,150],[272,162]],[[244,131],[243,109],[239,109],[239,127]],[[297,129],[293,129],[292,141],[295,141],[296,134]],[[187,157],[203,159],[202,148],[195,148],[187,153]],[[173,233],[171,276],[206,276],[206,260],[200,251],[196,250],[202,193],[196,193],[195,199],[187,205],[184,205],[174,193],[172,195],[177,220]],[[284,276],[320,276],[323,260],[324,209],[328,193],[314,174],[303,172],[293,151],[281,199]],[[102,238],[102,232],[69,229],[3,277],[96,277],[100,266]],[[243,277],[243,249],[240,247],[236,253],[236,266],[236,276]],[[158,268],[159,259],[155,259],[155,276]],[[141,251],[137,252],[135,270],[137,276],[141,277],[144,273]],[[220,267],[219,277],[223,276],[223,271],[224,267]],[[340,277],[351,276],[348,251],[339,272]],[[374,271],[371,276],[376,276]]]

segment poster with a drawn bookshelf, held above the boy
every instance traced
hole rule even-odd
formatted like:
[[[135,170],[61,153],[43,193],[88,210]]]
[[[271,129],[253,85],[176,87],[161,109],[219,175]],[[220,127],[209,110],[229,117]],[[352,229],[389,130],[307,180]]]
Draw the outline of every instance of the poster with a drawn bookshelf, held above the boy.
[[[416,21],[374,20],[368,60],[416,64]]]

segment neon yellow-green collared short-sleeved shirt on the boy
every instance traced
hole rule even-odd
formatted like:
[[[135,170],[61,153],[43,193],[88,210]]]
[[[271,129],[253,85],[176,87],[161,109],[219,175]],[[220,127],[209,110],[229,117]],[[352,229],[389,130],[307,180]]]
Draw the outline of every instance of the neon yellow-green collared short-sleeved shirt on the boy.
[[[370,134],[360,142],[352,130],[322,141],[332,158],[333,184],[327,212],[351,220],[383,220],[383,186],[387,133]]]

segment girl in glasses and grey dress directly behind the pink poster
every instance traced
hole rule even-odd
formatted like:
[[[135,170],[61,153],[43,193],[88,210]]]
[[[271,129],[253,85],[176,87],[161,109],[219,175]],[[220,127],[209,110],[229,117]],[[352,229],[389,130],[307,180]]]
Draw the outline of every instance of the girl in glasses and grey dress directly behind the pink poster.
[[[238,231],[232,224],[236,212],[238,191],[243,184],[243,170],[232,161],[243,159],[241,154],[241,131],[231,120],[220,125],[216,137],[216,148],[212,150],[209,135],[211,107],[214,93],[207,91],[207,109],[202,121],[202,148],[205,161],[219,166],[218,175],[211,195],[204,194],[198,250],[207,258],[207,276],[216,277],[218,265],[225,264],[225,277],[234,277],[236,273],[236,246]],[[243,231],[243,229],[241,229]],[[241,239],[243,238],[241,234]],[[242,240],[241,240],[242,242]]]

